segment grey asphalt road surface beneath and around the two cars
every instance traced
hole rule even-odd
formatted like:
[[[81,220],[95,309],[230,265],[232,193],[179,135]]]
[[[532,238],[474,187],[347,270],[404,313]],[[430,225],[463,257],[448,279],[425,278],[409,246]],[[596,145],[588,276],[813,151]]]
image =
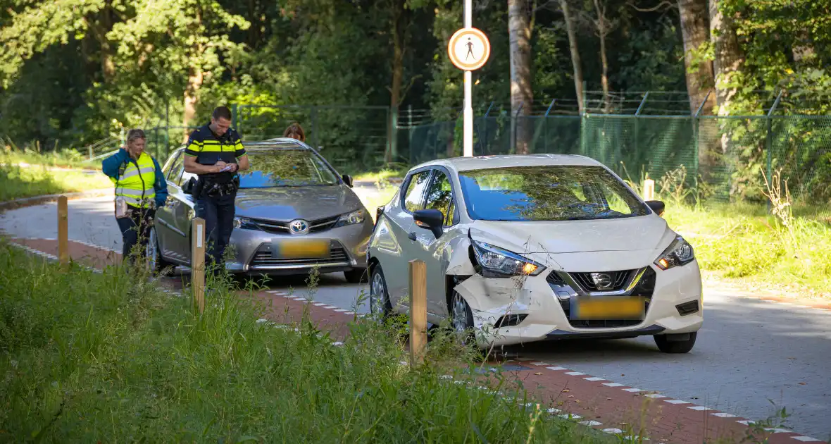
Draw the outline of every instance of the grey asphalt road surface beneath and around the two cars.
[[[359,189],[361,198],[374,190]],[[112,198],[71,200],[70,239],[120,251]],[[56,205],[0,215],[14,237],[57,237]],[[273,289],[307,292],[305,278],[280,279]],[[341,274],[322,276],[314,298],[354,309],[366,286]],[[522,356],[688,402],[764,420],[785,407],[784,426],[810,437],[831,437],[831,312],[743,298],[707,288],[705,323],[696,348],[659,353],[652,338],[537,343],[513,348]],[[366,313],[366,303],[358,306]]]

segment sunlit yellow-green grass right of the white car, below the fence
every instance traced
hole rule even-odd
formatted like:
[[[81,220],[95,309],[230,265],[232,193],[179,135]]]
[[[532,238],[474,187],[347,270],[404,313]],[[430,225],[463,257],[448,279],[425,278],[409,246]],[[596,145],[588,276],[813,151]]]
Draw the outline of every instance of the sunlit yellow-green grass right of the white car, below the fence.
[[[765,193],[770,210],[746,203],[690,205],[683,181],[673,180],[678,177],[662,178],[656,199],[667,202],[667,223],[690,240],[703,269],[769,289],[831,297],[828,205],[794,203],[778,174]]]

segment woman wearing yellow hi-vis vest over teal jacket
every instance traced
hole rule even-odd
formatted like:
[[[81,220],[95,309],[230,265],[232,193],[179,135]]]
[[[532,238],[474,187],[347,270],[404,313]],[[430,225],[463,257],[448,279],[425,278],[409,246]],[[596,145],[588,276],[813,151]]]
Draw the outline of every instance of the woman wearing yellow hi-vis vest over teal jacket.
[[[136,254],[145,257],[155,209],[167,200],[165,175],[159,162],[145,153],[146,142],[145,131],[130,130],[127,146],[101,162],[101,170],[116,185],[116,221],[125,264],[131,264]],[[140,249],[134,250],[136,244]]]

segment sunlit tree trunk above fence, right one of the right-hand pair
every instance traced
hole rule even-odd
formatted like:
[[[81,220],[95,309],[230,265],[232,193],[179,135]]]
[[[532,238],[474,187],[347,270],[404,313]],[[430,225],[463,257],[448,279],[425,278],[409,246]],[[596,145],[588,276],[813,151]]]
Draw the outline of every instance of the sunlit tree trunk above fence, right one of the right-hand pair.
[[[733,20],[719,11],[720,0],[710,0],[710,36],[715,50],[713,72],[715,74],[715,103],[718,115],[730,115],[730,101],[736,95],[735,86],[730,81],[740,71],[745,62],[735,35]]]

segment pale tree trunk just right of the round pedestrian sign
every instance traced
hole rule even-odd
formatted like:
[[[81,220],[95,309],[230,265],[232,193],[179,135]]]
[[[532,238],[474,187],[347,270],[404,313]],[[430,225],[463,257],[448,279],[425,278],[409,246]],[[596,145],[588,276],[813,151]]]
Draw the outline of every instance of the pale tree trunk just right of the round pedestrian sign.
[[[534,126],[529,118],[534,102],[531,80],[531,27],[528,0],[508,0],[511,64],[511,117],[516,153],[528,154]]]

